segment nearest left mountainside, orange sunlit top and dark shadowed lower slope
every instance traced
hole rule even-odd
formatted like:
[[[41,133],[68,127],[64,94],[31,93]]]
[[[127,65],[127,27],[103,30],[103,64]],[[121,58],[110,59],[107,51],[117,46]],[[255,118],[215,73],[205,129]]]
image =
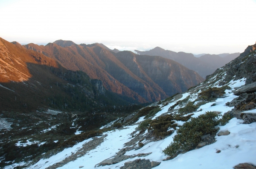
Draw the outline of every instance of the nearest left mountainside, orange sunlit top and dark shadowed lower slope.
[[[67,70],[55,59],[15,44],[0,39],[0,110],[93,111],[139,103],[105,90],[102,81],[82,71]]]

